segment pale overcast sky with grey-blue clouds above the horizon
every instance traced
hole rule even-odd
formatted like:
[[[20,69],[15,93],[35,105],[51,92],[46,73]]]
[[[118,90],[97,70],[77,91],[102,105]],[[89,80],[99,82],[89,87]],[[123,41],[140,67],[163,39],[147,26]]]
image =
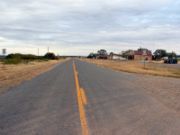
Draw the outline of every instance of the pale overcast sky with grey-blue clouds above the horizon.
[[[180,54],[180,0],[4,0],[0,49],[87,55],[146,47]]]

